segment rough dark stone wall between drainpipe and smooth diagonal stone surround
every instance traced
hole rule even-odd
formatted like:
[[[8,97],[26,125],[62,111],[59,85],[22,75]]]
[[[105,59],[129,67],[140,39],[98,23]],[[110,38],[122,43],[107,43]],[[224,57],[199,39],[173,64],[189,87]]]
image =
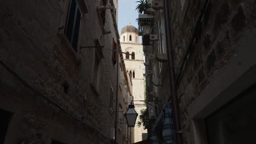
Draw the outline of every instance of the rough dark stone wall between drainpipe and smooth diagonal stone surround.
[[[210,1],[196,27],[206,2],[185,1],[183,9],[179,1],[170,3],[176,73],[189,51],[177,90],[185,143],[191,143],[192,133],[188,107],[236,56],[241,49],[237,41],[255,28],[256,1]]]

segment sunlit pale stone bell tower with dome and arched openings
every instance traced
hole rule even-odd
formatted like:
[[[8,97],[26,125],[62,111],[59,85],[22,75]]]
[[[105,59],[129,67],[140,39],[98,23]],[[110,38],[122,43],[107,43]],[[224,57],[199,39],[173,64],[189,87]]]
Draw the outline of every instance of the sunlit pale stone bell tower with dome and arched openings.
[[[142,45],[139,43],[138,29],[129,23],[129,25],[121,29],[120,35],[121,49],[124,54],[124,62],[126,65],[126,71],[132,77],[132,95],[133,103],[135,105],[135,110],[138,113],[136,123],[139,121],[139,115],[141,115],[141,110],[146,109],[144,100],[144,55],[142,50]],[[147,134],[147,130],[143,129],[143,126],[138,127],[137,124],[134,128],[134,141],[142,141],[142,135]]]

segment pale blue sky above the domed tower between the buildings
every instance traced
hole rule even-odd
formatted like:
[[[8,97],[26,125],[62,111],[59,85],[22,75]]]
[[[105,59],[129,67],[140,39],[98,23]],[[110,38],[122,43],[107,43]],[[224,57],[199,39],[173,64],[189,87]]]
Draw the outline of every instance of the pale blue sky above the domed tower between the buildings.
[[[119,0],[118,8],[118,32],[121,34],[121,29],[131,22],[131,25],[138,28],[138,13],[135,10],[136,3],[139,0]]]

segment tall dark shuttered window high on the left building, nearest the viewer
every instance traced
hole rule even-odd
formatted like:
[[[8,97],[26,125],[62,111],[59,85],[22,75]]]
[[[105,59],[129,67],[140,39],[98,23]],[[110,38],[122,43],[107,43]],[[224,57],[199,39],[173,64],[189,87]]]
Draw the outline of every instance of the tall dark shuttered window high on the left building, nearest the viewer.
[[[78,8],[77,2],[75,2],[75,0],[71,0],[69,3],[69,10],[64,33],[75,52],[77,52],[81,18],[82,14]]]

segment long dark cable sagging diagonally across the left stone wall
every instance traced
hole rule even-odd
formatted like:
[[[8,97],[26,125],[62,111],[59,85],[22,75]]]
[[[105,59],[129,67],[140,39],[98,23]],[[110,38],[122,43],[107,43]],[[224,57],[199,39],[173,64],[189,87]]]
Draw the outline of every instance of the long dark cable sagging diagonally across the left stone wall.
[[[58,105],[57,103],[55,103],[53,100],[51,100],[50,98],[46,97],[44,94],[42,94],[41,92],[39,92],[36,88],[34,88],[33,86],[31,86],[29,83],[27,83],[25,80],[23,80],[18,74],[15,73],[15,71],[13,71],[12,69],[10,69],[6,64],[4,64],[2,61],[0,61],[0,63],[3,65],[3,67],[14,77],[16,77],[16,79],[18,79],[26,88],[30,89],[32,92],[36,93],[37,95],[39,95],[40,97],[44,98],[45,100],[47,100],[49,103],[53,104],[54,106],[56,106],[57,108],[59,108],[62,112],[66,113],[68,116],[74,118],[75,120],[83,123],[86,125],[86,127],[89,127],[91,129],[93,129],[97,134],[101,135],[102,137],[104,137],[104,139],[110,140],[107,136],[104,136],[103,134],[101,134],[100,131],[98,131],[97,129],[91,127],[91,125],[89,125],[88,123],[85,123],[84,121],[82,121],[81,119],[73,116],[71,113],[67,112],[66,110],[64,110],[60,105]]]

